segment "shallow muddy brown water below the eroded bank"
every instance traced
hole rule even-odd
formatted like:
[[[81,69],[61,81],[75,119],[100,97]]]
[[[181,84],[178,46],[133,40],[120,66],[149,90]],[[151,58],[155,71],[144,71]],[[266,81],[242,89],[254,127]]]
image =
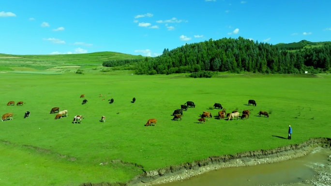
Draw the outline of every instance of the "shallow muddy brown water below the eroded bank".
[[[316,175],[314,168],[330,166],[328,165],[330,155],[330,149],[317,148],[307,156],[296,159],[250,167],[219,169],[160,186],[270,186],[282,184],[302,186],[302,181],[312,179]]]

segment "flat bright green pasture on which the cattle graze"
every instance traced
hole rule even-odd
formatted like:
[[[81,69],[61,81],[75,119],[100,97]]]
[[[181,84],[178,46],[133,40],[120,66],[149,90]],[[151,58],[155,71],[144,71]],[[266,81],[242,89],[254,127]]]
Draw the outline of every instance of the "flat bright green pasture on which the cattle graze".
[[[143,170],[331,137],[329,75],[194,79],[130,73],[0,73],[0,114],[14,113],[13,120],[0,122],[0,185],[125,182]],[[113,104],[107,101],[111,98]],[[250,99],[257,106],[248,106]],[[11,100],[24,105],[7,106]],[[173,111],[188,100],[196,108],[184,111],[182,121],[172,121]],[[210,110],[215,102],[227,112],[249,109],[251,115],[199,124],[203,111],[217,115],[218,109]],[[53,107],[68,110],[68,117],[55,120],[49,114]],[[270,117],[258,117],[260,110]],[[26,111],[31,116],[24,119]],[[81,124],[72,123],[75,115],[84,116]],[[99,121],[102,115],[105,123]],[[156,126],[145,127],[150,118],[158,120]],[[291,141],[279,138],[287,137],[288,125]]]

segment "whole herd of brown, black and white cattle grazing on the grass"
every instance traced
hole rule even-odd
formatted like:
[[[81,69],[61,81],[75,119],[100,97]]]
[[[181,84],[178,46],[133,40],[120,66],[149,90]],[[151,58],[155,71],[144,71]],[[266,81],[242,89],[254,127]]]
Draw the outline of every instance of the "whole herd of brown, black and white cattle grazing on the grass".
[[[102,94],[100,94],[100,97],[102,97]],[[80,98],[85,98],[85,94],[82,94],[80,96]],[[105,100],[105,99],[103,99]],[[114,102],[114,99],[110,99],[108,100],[110,101],[109,103],[113,103]],[[83,100],[82,104],[86,104],[88,102],[88,100]],[[132,103],[135,103],[135,98],[132,99],[131,101]],[[248,105],[253,105],[253,106],[256,106],[256,101],[255,100],[248,100]],[[7,106],[10,106],[10,105],[15,105],[15,102],[14,101],[9,101],[7,103]],[[23,105],[23,101],[18,101],[16,105]],[[218,119],[225,119],[225,115],[227,117],[227,120],[233,120],[234,118],[238,118],[241,117],[241,119],[248,119],[249,118],[249,114],[250,114],[250,111],[249,110],[244,110],[242,111],[242,114],[240,115],[240,113],[238,111],[232,111],[231,113],[226,113],[226,109],[222,107],[222,105],[220,103],[215,103],[213,105],[213,107],[215,109],[222,109],[222,111],[219,111],[218,112],[218,115],[216,116]],[[173,112],[173,119],[172,120],[182,120],[182,116],[184,115],[183,114],[183,111],[187,111],[188,108],[196,108],[196,104],[193,102],[193,101],[186,101],[183,105],[181,105],[181,109],[176,109],[174,112]],[[63,117],[63,115],[65,115],[66,117],[68,116],[68,111],[67,110],[63,110],[63,111],[60,111],[60,108],[59,107],[54,107],[51,109],[50,111],[50,114],[54,114],[54,113],[57,113],[57,115],[55,116],[55,119],[61,119]],[[265,111],[260,111],[259,113],[257,113],[258,116],[261,116],[261,115],[264,115],[264,117],[269,117],[269,114]],[[27,117],[30,117],[30,111],[27,111],[25,112],[24,114],[24,118],[27,118]],[[210,112],[206,112],[206,111],[203,111],[202,114],[200,115],[200,118],[197,119],[197,121],[199,123],[205,123],[206,122],[206,119],[205,118],[208,118],[208,120],[212,117],[212,114]],[[2,118],[1,118],[1,121],[6,121],[7,118],[10,118],[10,120],[13,119],[13,113],[6,113],[6,114],[3,114],[2,115]],[[82,122],[82,119],[84,119],[84,117],[82,115],[75,115],[74,116],[74,120],[72,123],[81,123]],[[105,116],[101,116],[101,122],[105,122]],[[153,124],[153,126],[156,125],[156,122],[157,122],[157,119],[153,118],[153,119],[149,119],[147,121],[147,123],[145,124],[145,126],[151,126]]]

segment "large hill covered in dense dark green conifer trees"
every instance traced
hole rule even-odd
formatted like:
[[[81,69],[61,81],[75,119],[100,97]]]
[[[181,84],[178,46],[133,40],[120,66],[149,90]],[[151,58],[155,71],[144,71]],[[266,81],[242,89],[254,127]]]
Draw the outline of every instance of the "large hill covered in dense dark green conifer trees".
[[[158,57],[111,60],[104,66],[130,65],[136,74],[183,72],[318,73],[329,71],[331,45],[286,51],[277,45],[239,37],[185,44]]]

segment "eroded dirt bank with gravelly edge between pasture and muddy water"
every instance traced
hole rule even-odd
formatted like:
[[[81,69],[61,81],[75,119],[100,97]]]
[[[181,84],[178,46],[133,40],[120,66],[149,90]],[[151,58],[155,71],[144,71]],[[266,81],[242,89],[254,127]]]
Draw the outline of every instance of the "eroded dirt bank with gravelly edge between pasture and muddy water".
[[[127,183],[85,183],[81,186],[151,186],[184,180],[212,170],[274,163],[307,155],[317,146],[331,148],[330,138],[312,138],[301,144],[291,144],[271,150],[256,150],[235,155],[214,156],[180,165],[144,172]],[[317,179],[317,178],[316,178]]]

